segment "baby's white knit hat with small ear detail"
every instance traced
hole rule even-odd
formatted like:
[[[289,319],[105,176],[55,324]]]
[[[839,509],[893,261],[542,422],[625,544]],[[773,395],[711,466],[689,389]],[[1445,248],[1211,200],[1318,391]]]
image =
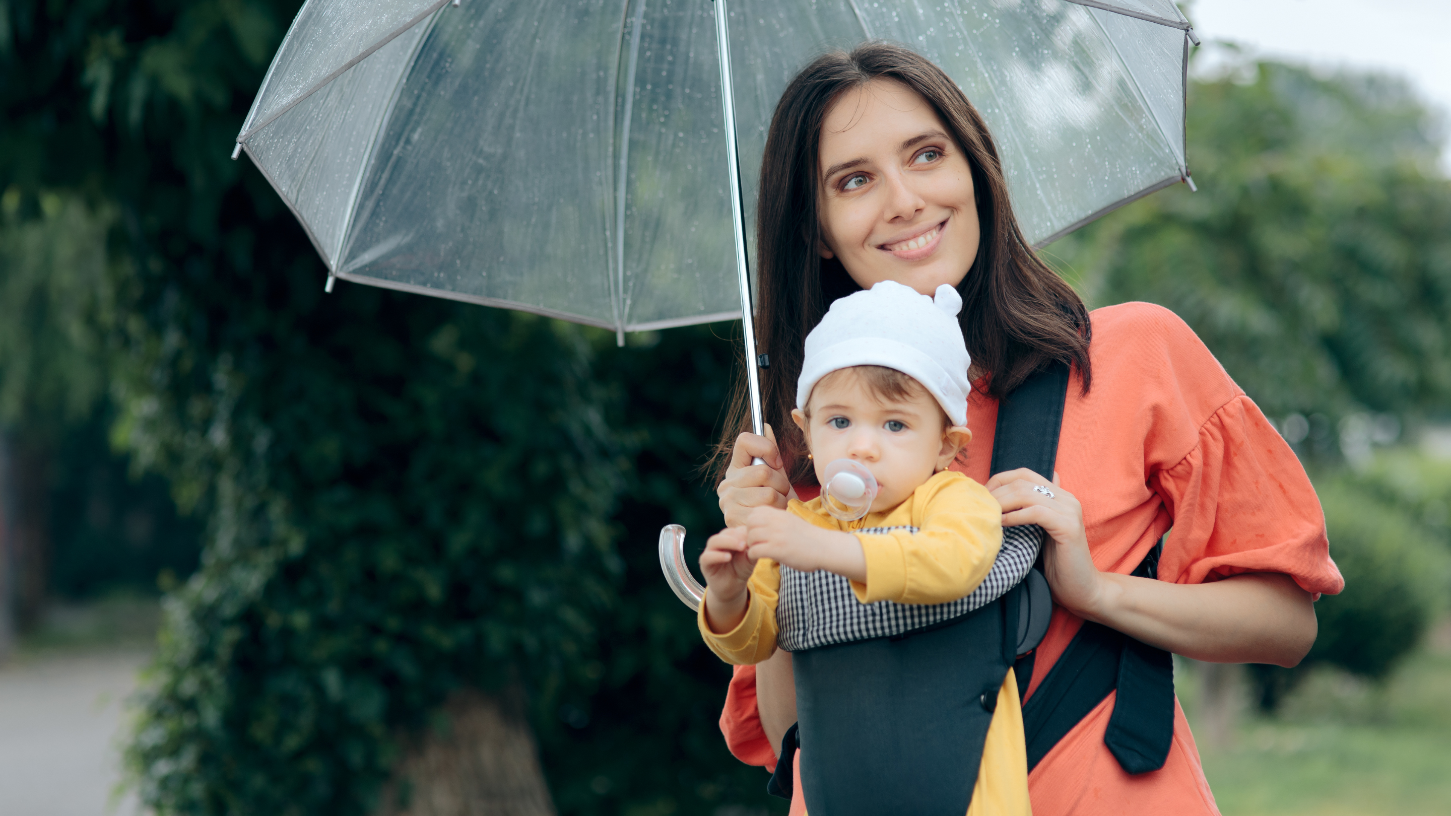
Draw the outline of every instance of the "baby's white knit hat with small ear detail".
[[[797,408],[805,409],[811,389],[831,372],[882,366],[920,382],[953,425],[966,425],[972,357],[958,324],[962,296],[946,283],[934,295],[882,280],[831,303],[807,335]]]

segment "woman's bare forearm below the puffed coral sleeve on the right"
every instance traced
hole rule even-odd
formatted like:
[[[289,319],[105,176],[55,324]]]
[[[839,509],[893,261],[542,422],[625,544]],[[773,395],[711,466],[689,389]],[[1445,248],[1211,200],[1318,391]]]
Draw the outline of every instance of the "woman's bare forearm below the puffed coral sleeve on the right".
[[[1293,666],[1315,643],[1315,604],[1287,575],[1258,572],[1210,584],[1100,575],[1096,603],[1072,611],[1185,658]]]

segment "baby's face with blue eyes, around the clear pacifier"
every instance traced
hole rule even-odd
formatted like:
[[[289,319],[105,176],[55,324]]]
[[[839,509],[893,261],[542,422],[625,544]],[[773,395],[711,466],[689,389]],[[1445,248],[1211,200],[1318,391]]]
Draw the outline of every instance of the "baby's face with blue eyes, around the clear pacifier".
[[[855,459],[876,478],[872,511],[897,507],[939,469],[946,468],[965,428],[949,428],[937,401],[924,388],[884,399],[849,372],[823,379],[811,391],[810,417],[794,411],[805,433],[817,479],[834,459]],[[955,431],[955,433],[949,433]]]

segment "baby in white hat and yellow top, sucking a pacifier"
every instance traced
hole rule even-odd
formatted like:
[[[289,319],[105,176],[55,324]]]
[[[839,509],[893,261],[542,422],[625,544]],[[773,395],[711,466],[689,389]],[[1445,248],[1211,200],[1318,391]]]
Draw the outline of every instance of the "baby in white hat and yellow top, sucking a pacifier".
[[[961,306],[950,286],[927,298],[882,282],[836,301],[807,337],[792,420],[823,495],[756,508],[744,527],[707,543],[699,629],[721,659],[759,664],[778,646],[810,652],[948,626],[1027,572],[1037,540],[1010,536],[1010,553],[997,499],[949,470],[972,438]],[[1013,558],[995,569],[1000,547]],[[997,640],[981,648],[1001,649]],[[978,743],[969,812],[1026,813],[1016,684],[988,680],[984,717],[997,714]],[[798,700],[811,695],[802,682],[798,666]],[[802,743],[802,756],[808,751]]]

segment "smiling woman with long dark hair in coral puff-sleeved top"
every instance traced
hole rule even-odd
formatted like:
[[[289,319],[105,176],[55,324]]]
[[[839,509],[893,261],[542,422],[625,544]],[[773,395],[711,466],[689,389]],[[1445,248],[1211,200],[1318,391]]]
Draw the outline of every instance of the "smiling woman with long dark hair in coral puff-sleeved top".
[[[1344,582],[1299,460],[1183,321],[1148,303],[1090,315],[1033,256],[982,119],[936,65],[868,44],[798,74],[772,119],[757,225],[762,388],[779,437],[723,443],[727,524],[785,507],[792,485],[815,491],[786,417],[802,340],[827,305],[879,280],[923,293],[948,283],[974,360],[962,469],[1001,502],[1004,526],[1040,524],[1051,539],[1055,610],[1024,704],[1084,621],[1199,661],[1304,656],[1313,600]],[[1055,362],[1072,370],[1056,473],[990,475],[998,398]],[[1170,527],[1158,579],[1130,576]],[[1177,701],[1168,756],[1136,775],[1104,745],[1113,710],[1109,694],[1033,768],[1037,816],[1217,813]],[[789,655],[737,668],[721,727],[739,758],[773,767],[794,720]],[[792,813],[804,812],[797,796]]]

